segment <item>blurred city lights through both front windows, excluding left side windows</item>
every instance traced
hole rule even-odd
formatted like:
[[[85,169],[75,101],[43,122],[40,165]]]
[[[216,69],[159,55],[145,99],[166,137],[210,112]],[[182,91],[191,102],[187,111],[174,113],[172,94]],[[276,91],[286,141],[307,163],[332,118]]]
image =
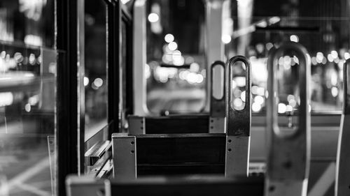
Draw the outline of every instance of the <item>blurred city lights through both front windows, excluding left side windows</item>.
[[[347,1],[323,0],[223,3],[225,59],[241,54],[251,60],[253,113],[265,112],[267,54],[286,41],[301,43],[310,54],[312,112],[341,110],[342,65],[350,58],[346,5]],[[211,63],[206,62],[204,50],[205,9],[200,0],[148,1],[146,78],[152,112],[199,112],[204,107],[205,65]],[[297,57],[290,54],[279,59],[285,69],[281,113],[297,107],[295,63]],[[244,80],[235,77],[235,85],[235,105],[240,107]]]

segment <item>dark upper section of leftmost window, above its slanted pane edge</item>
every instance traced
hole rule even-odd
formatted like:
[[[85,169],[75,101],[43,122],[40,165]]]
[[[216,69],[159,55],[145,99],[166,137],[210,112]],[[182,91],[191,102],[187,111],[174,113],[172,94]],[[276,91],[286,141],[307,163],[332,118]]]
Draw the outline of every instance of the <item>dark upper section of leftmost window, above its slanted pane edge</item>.
[[[0,40],[53,47],[54,3],[53,0],[1,0]]]

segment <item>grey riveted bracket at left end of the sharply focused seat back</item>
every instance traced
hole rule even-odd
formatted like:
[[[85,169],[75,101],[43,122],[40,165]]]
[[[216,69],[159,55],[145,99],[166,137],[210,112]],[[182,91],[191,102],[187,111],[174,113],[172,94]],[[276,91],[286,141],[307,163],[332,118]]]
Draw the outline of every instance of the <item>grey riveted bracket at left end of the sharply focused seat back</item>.
[[[127,133],[113,133],[113,177],[137,178],[136,137]]]

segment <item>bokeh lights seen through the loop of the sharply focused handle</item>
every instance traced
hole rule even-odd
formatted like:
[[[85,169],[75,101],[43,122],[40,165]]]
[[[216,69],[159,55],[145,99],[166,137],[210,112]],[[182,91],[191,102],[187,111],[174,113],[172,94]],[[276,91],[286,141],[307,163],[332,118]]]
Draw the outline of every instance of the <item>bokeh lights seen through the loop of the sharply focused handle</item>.
[[[232,84],[231,107],[235,110],[243,110],[246,106],[246,66],[244,63],[237,61],[230,69],[230,81]]]

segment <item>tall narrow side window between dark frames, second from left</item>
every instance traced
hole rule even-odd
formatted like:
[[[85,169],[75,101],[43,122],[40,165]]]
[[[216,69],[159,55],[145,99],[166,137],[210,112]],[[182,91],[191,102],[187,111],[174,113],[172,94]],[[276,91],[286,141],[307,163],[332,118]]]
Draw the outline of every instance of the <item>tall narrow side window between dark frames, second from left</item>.
[[[109,146],[108,125],[108,7],[107,1],[87,0],[85,3],[85,173],[96,174],[108,153],[94,152]],[[108,164],[109,165],[109,164]],[[99,175],[99,174],[96,174]]]

